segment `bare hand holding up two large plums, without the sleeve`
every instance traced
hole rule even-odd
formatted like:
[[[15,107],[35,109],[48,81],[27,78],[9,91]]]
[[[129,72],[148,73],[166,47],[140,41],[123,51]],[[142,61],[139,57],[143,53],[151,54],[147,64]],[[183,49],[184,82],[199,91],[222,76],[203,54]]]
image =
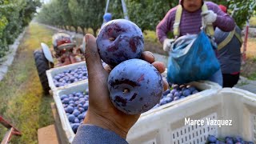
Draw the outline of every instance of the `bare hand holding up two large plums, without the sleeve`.
[[[112,69],[107,65],[105,68],[102,66],[96,38],[91,34],[86,34],[85,58],[89,81],[89,109],[84,123],[114,131],[114,133],[126,139],[128,131],[138,121],[140,114],[122,113],[110,101],[107,79]],[[152,53],[143,52],[142,59],[152,63],[160,73],[164,72],[164,64],[162,62],[154,62]],[[164,81],[164,89],[166,90],[167,88],[168,83]]]

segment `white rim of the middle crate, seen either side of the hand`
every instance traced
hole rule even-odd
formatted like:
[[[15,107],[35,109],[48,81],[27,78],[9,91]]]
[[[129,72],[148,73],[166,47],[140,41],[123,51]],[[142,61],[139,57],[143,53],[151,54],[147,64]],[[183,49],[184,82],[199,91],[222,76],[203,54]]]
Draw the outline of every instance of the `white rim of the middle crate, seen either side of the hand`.
[[[166,105],[159,106],[158,108],[152,109],[147,111],[146,113],[142,114],[142,117],[148,115],[148,114],[154,114],[155,111],[161,111],[164,110],[168,106],[174,106],[175,104],[178,104],[180,102],[185,102],[187,100],[190,100],[191,98],[200,96],[200,95],[206,95],[210,93],[214,93],[217,90],[220,90],[220,86],[214,82],[191,82],[190,83],[192,86],[195,86],[198,90],[200,91],[198,94],[193,94],[190,95],[189,97],[182,98],[178,101],[170,102]],[[60,99],[60,96],[62,94],[70,94],[72,92],[77,92],[77,91],[84,91],[88,88],[88,82],[80,82],[76,83],[75,85],[72,86],[66,86],[65,89],[63,90],[55,90],[54,91],[54,102],[57,106],[58,114],[60,117],[60,120],[62,122],[62,129],[66,133],[66,138],[68,139],[69,142],[72,142],[74,139],[74,132],[71,129],[70,123],[68,121],[68,118],[66,116],[66,112],[64,110],[64,107],[62,106],[62,101]]]

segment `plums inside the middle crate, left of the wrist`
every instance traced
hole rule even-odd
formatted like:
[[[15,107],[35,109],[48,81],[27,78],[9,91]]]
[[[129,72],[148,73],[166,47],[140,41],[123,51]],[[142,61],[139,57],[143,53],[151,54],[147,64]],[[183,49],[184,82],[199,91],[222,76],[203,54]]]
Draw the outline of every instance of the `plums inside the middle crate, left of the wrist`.
[[[86,117],[86,111],[89,106],[88,89],[85,92],[73,92],[71,94],[62,94],[62,105],[66,111],[66,116],[74,133],[77,132]]]

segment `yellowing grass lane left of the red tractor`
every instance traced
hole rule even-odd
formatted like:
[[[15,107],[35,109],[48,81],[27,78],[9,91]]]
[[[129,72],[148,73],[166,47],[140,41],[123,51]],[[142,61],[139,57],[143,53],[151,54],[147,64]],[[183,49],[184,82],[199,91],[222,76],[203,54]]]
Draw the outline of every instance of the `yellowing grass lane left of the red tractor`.
[[[50,95],[44,95],[34,66],[33,51],[51,43],[52,30],[30,24],[6,77],[0,82],[0,114],[22,131],[11,143],[38,143],[37,130],[54,123]],[[0,131],[6,131],[0,127]],[[2,139],[3,133],[0,133]]]

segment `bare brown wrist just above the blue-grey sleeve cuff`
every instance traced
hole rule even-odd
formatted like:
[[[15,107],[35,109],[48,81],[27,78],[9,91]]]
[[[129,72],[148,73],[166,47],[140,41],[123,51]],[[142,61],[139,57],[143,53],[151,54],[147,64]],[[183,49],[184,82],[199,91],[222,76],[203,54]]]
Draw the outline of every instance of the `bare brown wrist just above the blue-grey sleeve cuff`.
[[[84,124],[90,124],[90,125],[101,127],[105,130],[113,131],[115,134],[118,134],[120,137],[124,139],[126,139],[126,135],[128,134],[128,130],[129,130],[122,126],[119,126],[118,122],[115,122],[111,118],[102,116],[102,114],[97,114],[96,112],[90,109],[86,113]]]

